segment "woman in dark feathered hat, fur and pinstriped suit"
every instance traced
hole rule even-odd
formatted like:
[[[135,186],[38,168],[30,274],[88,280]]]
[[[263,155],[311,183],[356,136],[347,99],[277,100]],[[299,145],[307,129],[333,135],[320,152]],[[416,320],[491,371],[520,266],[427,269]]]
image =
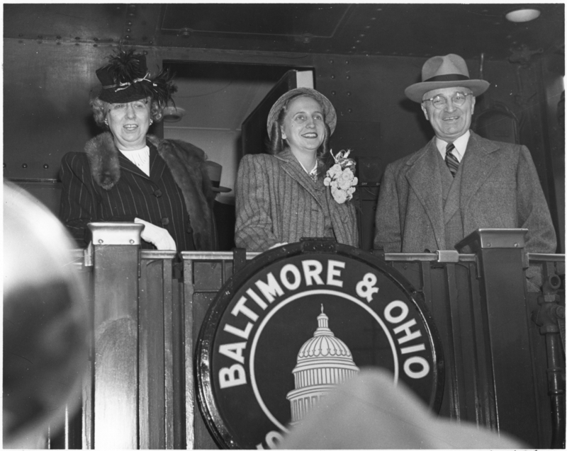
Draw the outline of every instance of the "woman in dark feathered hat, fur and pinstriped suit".
[[[151,78],[145,55],[122,49],[96,76],[102,89],[91,109],[106,131],[62,159],[62,222],[80,246],[90,241],[89,222],[137,222],[143,249],[215,250],[205,153],[147,135],[175,91],[172,76]]]

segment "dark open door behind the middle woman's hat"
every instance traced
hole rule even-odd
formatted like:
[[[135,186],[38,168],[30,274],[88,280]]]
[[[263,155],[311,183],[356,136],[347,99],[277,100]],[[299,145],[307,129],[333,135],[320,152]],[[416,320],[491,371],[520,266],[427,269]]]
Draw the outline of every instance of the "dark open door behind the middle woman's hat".
[[[237,156],[238,161],[246,154],[263,154],[266,150],[266,121],[271,105],[287,91],[295,88],[313,88],[313,71],[286,72],[254,111],[242,122],[242,152]]]

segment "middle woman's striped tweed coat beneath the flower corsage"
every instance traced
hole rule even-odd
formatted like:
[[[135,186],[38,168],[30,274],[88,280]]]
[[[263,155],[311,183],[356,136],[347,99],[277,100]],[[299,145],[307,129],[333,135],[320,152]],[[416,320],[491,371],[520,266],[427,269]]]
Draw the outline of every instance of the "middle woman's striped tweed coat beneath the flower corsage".
[[[236,245],[266,251],[277,243],[324,236],[325,200],[337,241],[358,246],[354,205],[337,203],[322,180],[313,183],[290,150],[244,156],[236,185]]]

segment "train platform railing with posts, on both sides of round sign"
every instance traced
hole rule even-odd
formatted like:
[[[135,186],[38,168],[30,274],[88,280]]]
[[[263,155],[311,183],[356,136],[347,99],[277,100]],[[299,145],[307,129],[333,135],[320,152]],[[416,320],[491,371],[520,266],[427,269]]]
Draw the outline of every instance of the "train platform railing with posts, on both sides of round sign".
[[[215,296],[258,253],[142,251],[139,224],[90,224],[74,253],[91,287],[90,367],[67,447],[214,448],[194,350]],[[439,331],[441,416],[563,447],[563,254],[524,252],[522,229],[478,230],[461,251],[375,253],[425,299]],[[532,275],[527,280],[526,275]],[[535,282],[535,283],[532,283]],[[80,423],[80,426],[79,426]]]

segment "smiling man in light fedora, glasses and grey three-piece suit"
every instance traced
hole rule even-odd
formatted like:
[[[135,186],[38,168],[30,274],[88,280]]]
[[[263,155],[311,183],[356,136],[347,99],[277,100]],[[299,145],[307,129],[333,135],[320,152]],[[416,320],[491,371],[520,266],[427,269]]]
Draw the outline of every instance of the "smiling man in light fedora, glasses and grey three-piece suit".
[[[529,230],[527,252],[555,252],[554,227],[527,147],[469,130],[476,96],[490,84],[470,79],[459,55],[428,59],[422,80],[405,95],[421,103],[435,137],[386,168],[374,248],[434,252],[454,249],[476,229],[521,227]]]

